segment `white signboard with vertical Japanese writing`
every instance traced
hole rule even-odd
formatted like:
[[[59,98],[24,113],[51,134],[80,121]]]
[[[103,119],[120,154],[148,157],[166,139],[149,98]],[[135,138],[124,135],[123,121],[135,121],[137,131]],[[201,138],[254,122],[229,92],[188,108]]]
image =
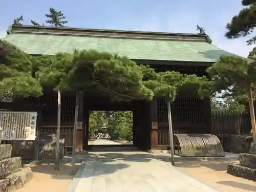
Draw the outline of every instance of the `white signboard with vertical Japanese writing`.
[[[0,112],[0,140],[35,140],[37,112]]]

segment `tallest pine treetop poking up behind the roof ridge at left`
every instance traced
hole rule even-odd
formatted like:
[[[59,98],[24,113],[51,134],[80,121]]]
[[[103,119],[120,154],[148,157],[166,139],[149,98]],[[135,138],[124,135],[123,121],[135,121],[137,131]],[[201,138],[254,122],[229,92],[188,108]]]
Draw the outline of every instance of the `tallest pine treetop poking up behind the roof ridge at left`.
[[[62,19],[65,19],[66,16],[63,16],[63,13],[61,11],[56,11],[54,8],[50,8],[50,14],[46,14],[46,17],[50,18],[49,20],[46,20],[46,23],[50,24],[51,26],[55,27],[63,27],[67,21],[63,21]]]

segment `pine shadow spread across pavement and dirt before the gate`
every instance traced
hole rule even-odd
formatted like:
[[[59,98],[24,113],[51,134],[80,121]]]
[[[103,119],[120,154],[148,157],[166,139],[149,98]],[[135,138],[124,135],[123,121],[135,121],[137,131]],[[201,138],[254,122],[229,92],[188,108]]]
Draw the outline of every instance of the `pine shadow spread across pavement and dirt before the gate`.
[[[150,154],[146,152],[79,152],[76,158],[82,158],[86,162],[88,169],[88,177],[100,176],[115,173],[117,170],[128,168],[129,162],[150,162],[152,160],[160,160],[164,162],[170,162],[171,158],[168,155]],[[177,167],[200,167],[205,166],[217,171],[226,170],[228,160],[187,160],[182,158],[176,159]],[[76,169],[78,169],[81,163],[77,163]],[[170,163],[169,163],[170,164]],[[71,164],[61,163],[60,171],[54,170],[54,164],[41,164],[32,167],[34,172],[42,174],[50,174],[54,179],[66,179],[72,178]]]

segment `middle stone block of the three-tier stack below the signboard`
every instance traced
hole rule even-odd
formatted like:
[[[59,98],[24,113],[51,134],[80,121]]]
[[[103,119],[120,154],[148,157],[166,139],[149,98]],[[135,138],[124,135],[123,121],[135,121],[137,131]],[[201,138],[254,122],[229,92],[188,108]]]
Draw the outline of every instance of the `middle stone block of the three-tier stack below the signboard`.
[[[0,179],[18,172],[22,167],[21,157],[12,157],[0,161]]]

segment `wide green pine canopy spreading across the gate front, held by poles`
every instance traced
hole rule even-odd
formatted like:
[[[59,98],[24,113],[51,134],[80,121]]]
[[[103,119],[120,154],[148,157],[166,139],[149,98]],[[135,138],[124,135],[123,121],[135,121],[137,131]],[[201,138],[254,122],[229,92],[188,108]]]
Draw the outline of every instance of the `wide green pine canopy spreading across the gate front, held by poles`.
[[[0,45],[1,49],[1,45]],[[127,57],[95,50],[31,56],[5,43],[1,67],[2,90],[13,94],[40,95],[42,88],[60,91],[97,91],[113,100],[153,99],[173,101],[184,90],[209,96],[211,81],[206,77],[174,71],[157,73]],[[18,81],[15,83],[15,81]],[[13,84],[13,86],[11,86]]]

